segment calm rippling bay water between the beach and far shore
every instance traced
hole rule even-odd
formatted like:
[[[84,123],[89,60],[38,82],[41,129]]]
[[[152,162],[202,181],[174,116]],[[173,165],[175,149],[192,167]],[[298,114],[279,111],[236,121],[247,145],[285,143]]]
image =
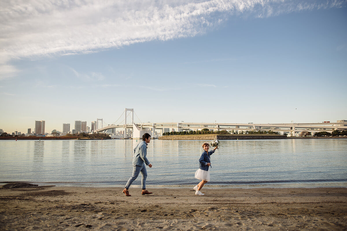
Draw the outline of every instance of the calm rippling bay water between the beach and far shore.
[[[124,186],[139,140],[1,140],[0,182]],[[147,187],[190,187],[201,140],[151,140]],[[221,140],[210,188],[347,187],[346,139]],[[141,175],[134,182],[141,184]]]

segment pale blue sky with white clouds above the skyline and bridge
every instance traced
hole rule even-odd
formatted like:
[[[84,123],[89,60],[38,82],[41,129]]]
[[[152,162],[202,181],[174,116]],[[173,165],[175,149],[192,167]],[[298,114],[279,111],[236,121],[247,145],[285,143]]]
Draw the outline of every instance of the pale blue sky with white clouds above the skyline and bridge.
[[[4,1],[0,128],[347,119],[346,3]]]

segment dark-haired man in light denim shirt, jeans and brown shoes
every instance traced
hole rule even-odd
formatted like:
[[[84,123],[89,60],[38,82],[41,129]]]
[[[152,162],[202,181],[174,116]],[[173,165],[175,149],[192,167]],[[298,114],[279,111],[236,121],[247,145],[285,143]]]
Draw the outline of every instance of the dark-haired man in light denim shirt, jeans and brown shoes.
[[[147,145],[151,142],[151,135],[148,133],[145,133],[142,136],[142,142],[137,145],[137,147],[134,149],[134,159],[133,159],[133,175],[129,178],[127,184],[125,185],[125,188],[123,190],[123,193],[126,196],[131,196],[129,194],[129,187],[135,181],[138,174],[141,172],[142,178],[141,178],[141,186],[142,186],[142,195],[151,194],[151,192],[148,192],[146,190],[146,178],[147,178],[147,170],[146,165],[148,167],[152,167],[150,164],[150,161],[147,159]]]

